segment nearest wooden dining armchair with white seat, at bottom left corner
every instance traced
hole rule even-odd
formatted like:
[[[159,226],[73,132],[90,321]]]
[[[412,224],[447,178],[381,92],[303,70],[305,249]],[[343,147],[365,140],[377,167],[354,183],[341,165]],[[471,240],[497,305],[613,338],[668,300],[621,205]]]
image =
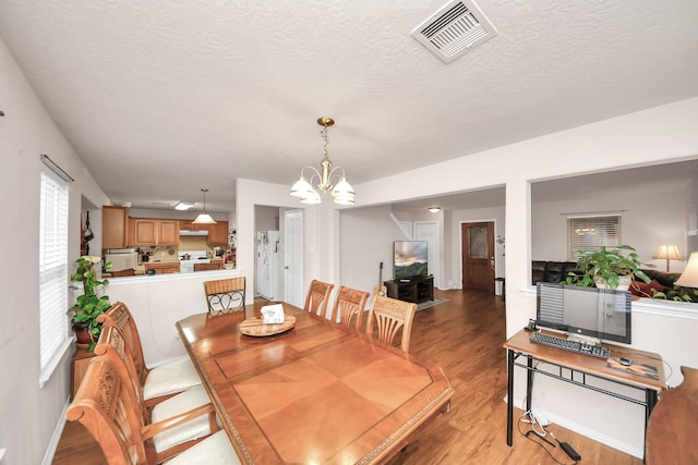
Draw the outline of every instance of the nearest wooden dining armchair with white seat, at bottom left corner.
[[[210,409],[210,405],[202,406],[198,411],[188,412],[178,418],[144,425],[129,381],[121,378],[110,359],[96,356],[89,363],[85,382],[80,386],[65,416],[71,421],[80,421],[87,429],[109,465],[240,464],[222,429],[200,439],[183,451],[168,450],[158,453],[155,450],[152,440],[157,435],[208,414]]]

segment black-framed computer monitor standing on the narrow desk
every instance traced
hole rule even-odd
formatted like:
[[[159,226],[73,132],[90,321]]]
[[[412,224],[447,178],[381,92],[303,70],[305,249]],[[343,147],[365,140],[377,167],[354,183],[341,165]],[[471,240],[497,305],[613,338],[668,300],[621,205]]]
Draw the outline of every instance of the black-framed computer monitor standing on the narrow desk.
[[[550,282],[537,284],[535,323],[540,327],[629,344],[630,293]]]

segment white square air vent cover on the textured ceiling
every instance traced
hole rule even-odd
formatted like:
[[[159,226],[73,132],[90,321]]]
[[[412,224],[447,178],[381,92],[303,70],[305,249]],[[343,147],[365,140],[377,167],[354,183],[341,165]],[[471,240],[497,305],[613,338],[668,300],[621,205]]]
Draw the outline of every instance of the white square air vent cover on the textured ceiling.
[[[471,0],[449,2],[412,30],[412,37],[445,63],[496,35],[492,23]]]

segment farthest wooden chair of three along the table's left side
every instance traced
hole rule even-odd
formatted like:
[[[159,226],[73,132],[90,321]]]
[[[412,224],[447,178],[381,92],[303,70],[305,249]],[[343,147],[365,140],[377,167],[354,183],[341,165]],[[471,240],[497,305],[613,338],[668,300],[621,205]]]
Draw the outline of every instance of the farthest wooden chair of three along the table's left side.
[[[117,302],[107,311],[97,317],[97,321],[116,326],[127,342],[133,357],[136,374],[143,387],[143,399],[147,405],[160,397],[201,386],[201,378],[188,355],[174,358],[153,369],[145,366],[143,346],[135,320],[123,302]]]

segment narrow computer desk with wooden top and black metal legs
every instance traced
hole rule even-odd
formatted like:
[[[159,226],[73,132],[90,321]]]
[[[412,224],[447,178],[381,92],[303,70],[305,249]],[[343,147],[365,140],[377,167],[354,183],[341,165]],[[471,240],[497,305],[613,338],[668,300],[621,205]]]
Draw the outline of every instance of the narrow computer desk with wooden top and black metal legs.
[[[559,335],[559,334],[553,334]],[[592,357],[589,355],[577,354],[574,352],[563,351],[562,348],[549,347],[546,345],[535,344],[529,341],[530,332],[521,330],[514,334],[504,343],[507,359],[507,431],[506,443],[512,445],[514,430],[514,367],[521,367],[527,370],[527,389],[526,405],[531,408],[531,396],[533,386],[533,374],[541,374],[561,381],[565,381],[575,386],[580,386],[592,391],[601,392],[616,399],[622,399],[638,405],[645,406],[645,436],[647,439],[647,424],[652,413],[652,408],[657,405],[659,393],[664,389],[666,381],[664,379],[664,367],[662,357],[651,352],[638,351],[635,347],[623,347],[619,345],[603,344],[611,351],[611,357],[627,357],[634,363],[652,365],[657,367],[659,379],[651,379],[627,371],[621,371],[606,366],[606,360]],[[526,358],[526,364],[517,362],[519,357]],[[533,360],[541,360],[546,364],[558,367],[557,374],[539,369]],[[563,369],[568,370],[563,374]],[[568,375],[568,376],[566,376]],[[575,377],[575,375],[577,375]],[[645,400],[619,394],[609,391],[593,384],[587,383],[587,377],[593,377],[612,381],[617,384],[627,386],[645,392]]]

